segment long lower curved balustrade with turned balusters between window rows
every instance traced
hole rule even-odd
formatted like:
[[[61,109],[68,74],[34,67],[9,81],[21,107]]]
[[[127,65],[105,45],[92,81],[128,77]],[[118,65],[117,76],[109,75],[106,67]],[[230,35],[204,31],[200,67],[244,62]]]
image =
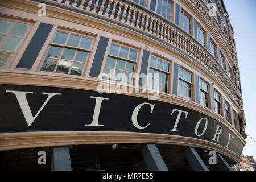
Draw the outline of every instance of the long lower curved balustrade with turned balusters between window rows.
[[[223,69],[213,60],[206,51],[197,46],[195,42],[187,36],[181,34],[175,28],[171,27],[154,16],[147,14],[142,10],[138,10],[133,6],[127,5],[124,2],[117,0],[44,0],[46,2],[55,2],[65,4],[86,11],[86,13],[104,16],[106,19],[112,19],[119,23],[125,24],[127,27],[132,27],[135,30],[145,34],[154,36],[173,47],[176,47],[191,56],[193,59],[204,65],[214,76],[218,78],[222,84],[229,90],[230,94],[236,100],[236,87],[229,79]],[[113,8],[110,8],[113,7]]]

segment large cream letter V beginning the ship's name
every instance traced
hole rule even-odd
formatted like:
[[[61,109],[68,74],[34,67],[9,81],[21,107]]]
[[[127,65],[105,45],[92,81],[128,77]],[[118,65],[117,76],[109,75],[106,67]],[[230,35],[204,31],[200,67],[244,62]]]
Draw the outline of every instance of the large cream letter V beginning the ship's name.
[[[31,126],[32,123],[35,121],[36,117],[38,117],[38,114],[42,111],[42,109],[44,108],[44,106],[46,106],[47,102],[56,95],[61,95],[60,93],[43,93],[43,94],[47,94],[48,98],[47,100],[44,102],[44,104],[42,105],[42,107],[39,109],[38,113],[36,113],[35,117],[33,117],[31,110],[30,110],[30,106],[28,105],[27,102],[27,98],[26,98],[26,94],[27,93],[33,93],[33,92],[22,92],[22,91],[10,91],[10,90],[6,90],[6,92],[9,93],[14,93],[18,102],[19,102],[19,106],[22,109],[22,113],[27,121],[27,125]]]

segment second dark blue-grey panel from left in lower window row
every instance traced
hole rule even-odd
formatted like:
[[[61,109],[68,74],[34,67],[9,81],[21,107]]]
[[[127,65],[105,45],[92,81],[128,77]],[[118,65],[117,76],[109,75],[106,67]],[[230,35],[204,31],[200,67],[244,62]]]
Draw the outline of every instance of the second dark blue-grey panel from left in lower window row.
[[[109,39],[101,36],[98,42],[98,47],[93,59],[92,68],[90,68],[90,75],[92,77],[98,77],[101,72],[101,65],[106,52],[106,47],[108,46]]]

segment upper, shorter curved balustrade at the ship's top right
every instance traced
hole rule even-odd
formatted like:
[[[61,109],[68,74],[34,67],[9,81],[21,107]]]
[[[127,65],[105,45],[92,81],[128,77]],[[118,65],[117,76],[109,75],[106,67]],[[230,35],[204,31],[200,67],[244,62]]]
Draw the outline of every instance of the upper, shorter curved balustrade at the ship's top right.
[[[201,15],[203,15],[204,18],[209,22],[210,26],[212,26],[212,29],[214,30],[214,32],[223,43],[226,50],[228,51],[229,56],[232,57],[232,47],[229,43],[228,38],[226,38],[226,35],[221,30],[214,16],[209,15],[209,9],[207,8],[207,6],[205,6],[204,2],[202,2],[201,0],[186,0],[186,1],[191,3],[192,6],[194,6],[197,10],[199,10]]]

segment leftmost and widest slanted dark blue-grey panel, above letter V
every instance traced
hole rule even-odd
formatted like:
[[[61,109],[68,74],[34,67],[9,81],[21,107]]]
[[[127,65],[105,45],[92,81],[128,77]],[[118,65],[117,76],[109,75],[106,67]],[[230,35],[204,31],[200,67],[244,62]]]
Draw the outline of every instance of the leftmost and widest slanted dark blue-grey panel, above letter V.
[[[22,58],[19,60],[17,68],[31,69],[35,63],[36,57],[38,57],[49,33],[52,30],[51,24],[40,23],[38,30],[36,30],[33,38],[27,46],[26,51],[23,53]]]

